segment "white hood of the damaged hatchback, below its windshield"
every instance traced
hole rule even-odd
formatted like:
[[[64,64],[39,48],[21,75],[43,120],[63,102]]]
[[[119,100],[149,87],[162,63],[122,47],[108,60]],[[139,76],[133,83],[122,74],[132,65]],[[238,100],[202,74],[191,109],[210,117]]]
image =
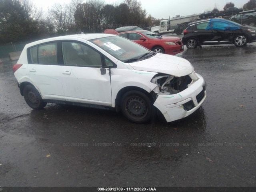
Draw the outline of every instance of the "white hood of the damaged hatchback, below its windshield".
[[[188,60],[161,53],[129,65],[135,70],[170,74],[176,77],[188,75],[194,70]]]

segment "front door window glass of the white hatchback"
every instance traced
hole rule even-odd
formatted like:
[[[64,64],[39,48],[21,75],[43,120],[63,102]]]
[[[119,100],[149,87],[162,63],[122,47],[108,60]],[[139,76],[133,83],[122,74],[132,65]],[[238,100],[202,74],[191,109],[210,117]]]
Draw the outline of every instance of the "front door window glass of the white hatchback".
[[[96,50],[78,42],[62,42],[65,65],[101,67],[101,55]]]

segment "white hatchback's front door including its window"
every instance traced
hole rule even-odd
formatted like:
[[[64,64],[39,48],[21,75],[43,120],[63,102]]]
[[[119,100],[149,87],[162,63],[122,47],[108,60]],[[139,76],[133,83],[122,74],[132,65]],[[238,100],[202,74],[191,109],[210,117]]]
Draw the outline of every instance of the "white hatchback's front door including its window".
[[[66,101],[112,105],[108,70],[102,68],[102,56],[86,44],[62,42],[64,66],[62,86]]]

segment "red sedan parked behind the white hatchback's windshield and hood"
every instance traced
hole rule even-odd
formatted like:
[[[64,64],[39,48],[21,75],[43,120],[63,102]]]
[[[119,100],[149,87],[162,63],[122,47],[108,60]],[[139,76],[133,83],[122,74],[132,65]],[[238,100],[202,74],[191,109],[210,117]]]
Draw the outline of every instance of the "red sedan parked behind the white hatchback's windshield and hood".
[[[127,31],[116,35],[130,39],[157,53],[175,55],[184,51],[182,41],[178,37],[163,37],[147,30]]]

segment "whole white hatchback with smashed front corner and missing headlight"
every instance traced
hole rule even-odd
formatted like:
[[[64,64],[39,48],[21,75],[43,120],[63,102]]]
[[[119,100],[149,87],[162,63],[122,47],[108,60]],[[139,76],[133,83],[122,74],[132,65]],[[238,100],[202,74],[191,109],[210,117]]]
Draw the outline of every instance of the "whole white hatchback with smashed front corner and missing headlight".
[[[13,72],[33,109],[47,102],[116,108],[136,123],[151,120],[155,107],[167,122],[184,118],[206,98],[206,83],[190,62],[111,34],[32,42]]]

